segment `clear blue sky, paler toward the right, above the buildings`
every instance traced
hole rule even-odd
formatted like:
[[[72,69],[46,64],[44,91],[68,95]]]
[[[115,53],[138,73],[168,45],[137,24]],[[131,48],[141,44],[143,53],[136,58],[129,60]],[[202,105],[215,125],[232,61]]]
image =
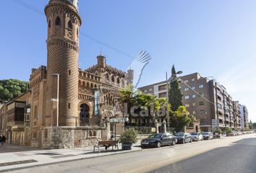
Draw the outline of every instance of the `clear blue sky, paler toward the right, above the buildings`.
[[[28,81],[46,65],[48,0],[1,2],[0,79]],[[123,71],[146,50],[151,60],[139,86],[165,80],[174,64],[183,74],[213,76],[256,122],[255,0],[80,0],[80,68],[107,63]]]

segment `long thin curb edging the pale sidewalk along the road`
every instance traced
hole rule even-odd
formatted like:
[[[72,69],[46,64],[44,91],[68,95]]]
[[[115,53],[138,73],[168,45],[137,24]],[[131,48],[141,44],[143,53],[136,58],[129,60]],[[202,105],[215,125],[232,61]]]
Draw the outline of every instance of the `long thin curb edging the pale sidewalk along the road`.
[[[11,171],[14,171],[14,170],[27,169],[27,168],[31,168],[31,167],[42,167],[42,166],[46,166],[46,165],[61,164],[61,163],[64,163],[64,162],[69,162],[69,161],[95,159],[95,158],[98,158],[98,157],[113,156],[113,155],[117,155],[117,154],[133,153],[133,152],[137,152],[137,151],[143,151],[143,150],[141,149],[141,150],[135,150],[135,151],[126,151],[126,152],[123,152],[123,153],[114,153],[114,154],[108,154],[108,155],[103,155],[103,156],[91,156],[91,157],[88,157],[88,158],[70,159],[70,160],[66,160],[66,161],[56,161],[54,163],[37,164],[37,165],[31,165],[31,166],[25,166],[25,167],[9,168],[9,169],[0,170],[0,172],[11,172]]]

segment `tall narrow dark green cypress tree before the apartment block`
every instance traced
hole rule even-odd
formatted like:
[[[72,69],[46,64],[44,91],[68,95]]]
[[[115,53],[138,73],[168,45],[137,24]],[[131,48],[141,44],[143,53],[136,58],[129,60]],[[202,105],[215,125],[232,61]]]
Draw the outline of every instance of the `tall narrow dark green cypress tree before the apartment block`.
[[[179,106],[182,106],[182,92],[179,89],[179,81],[174,66],[171,68],[171,81],[168,84],[168,100],[172,111],[176,111]]]

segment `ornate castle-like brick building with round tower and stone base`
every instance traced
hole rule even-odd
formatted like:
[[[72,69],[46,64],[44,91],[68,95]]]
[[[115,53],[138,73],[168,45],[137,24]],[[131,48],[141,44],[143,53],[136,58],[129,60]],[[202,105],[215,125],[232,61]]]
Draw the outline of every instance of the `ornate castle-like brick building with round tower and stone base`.
[[[97,57],[95,66],[79,68],[77,0],[50,0],[45,14],[47,67],[33,69],[29,92],[1,107],[0,133],[9,143],[40,148],[90,146],[109,138],[106,122],[121,116],[115,105],[132,71],[109,66],[104,56]]]

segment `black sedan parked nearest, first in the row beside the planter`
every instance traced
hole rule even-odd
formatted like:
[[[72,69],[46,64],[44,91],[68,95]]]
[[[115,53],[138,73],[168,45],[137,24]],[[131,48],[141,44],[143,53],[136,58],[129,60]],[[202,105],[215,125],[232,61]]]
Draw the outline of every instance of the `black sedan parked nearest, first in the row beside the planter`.
[[[155,133],[148,138],[145,138],[141,141],[141,146],[153,146],[153,147],[161,147],[161,146],[174,146],[176,144],[176,138],[170,133]]]

